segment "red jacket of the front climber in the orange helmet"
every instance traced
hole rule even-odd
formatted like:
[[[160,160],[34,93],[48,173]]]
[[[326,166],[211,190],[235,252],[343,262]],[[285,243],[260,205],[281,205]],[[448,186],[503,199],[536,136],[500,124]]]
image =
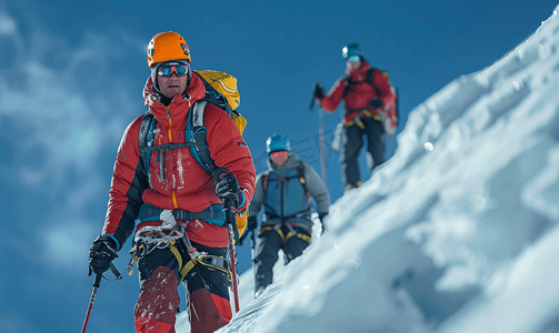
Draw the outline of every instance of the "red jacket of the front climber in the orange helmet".
[[[190,107],[206,94],[203,82],[192,75],[187,98],[174,97],[169,107],[152,93],[151,77],[146,83],[146,107],[157,119],[153,145],[183,143]],[[193,159],[188,148],[164,152],[162,170],[158,153],[151,154],[149,179],[144,175],[139,153],[139,131],[143,114],[132,121],[120,142],[109,191],[109,204],[102,233],[113,235],[120,246],[133,233],[139,209],[149,203],[160,209],[181,209],[200,212],[211,204],[222,203],[216,194],[216,182]],[[254,190],[254,165],[250,151],[231,118],[216,105],[206,107],[204,125],[211,158],[216,165],[228,169],[237,176],[250,202]],[[201,220],[188,223],[191,241],[208,246],[229,244],[227,226],[217,226]]]

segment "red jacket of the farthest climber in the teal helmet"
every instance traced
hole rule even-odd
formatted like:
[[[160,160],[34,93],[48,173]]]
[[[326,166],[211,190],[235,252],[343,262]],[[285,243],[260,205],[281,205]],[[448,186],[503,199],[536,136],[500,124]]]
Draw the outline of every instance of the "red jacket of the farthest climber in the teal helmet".
[[[361,67],[349,73],[351,75],[351,81],[353,82],[352,89],[343,98],[343,92],[346,90],[347,77],[341,77],[336,81],[333,87],[330,89],[328,95],[325,95],[320,101],[320,107],[327,112],[333,112],[340,104],[341,100],[345,100],[346,110],[359,110],[366,109],[373,98],[380,98],[385,105],[393,104],[396,101],[396,94],[391,89],[390,81],[388,80],[388,74],[385,71],[373,71],[372,79],[375,84],[380,90],[381,95],[377,94],[375,88],[367,82],[367,71],[370,64],[367,60],[362,60]],[[371,109],[371,108],[368,108]],[[372,114],[379,114],[378,110],[371,110]],[[348,112],[346,111],[343,115],[343,122],[356,119],[359,112]],[[365,115],[361,115],[365,117]]]

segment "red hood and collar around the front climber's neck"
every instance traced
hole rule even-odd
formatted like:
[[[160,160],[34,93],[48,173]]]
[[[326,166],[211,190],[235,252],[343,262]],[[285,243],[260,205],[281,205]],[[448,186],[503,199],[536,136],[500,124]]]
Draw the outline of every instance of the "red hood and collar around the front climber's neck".
[[[182,95],[176,95],[169,107],[161,103],[160,94],[153,89],[151,75],[143,87],[144,105],[149,108],[149,111],[153,113],[157,121],[162,125],[169,125],[169,119],[172,119],[174,123],[186,121],[190,107],[204,95],[206,88],[202,80],[197,74],[192,74],[188,90]]]

